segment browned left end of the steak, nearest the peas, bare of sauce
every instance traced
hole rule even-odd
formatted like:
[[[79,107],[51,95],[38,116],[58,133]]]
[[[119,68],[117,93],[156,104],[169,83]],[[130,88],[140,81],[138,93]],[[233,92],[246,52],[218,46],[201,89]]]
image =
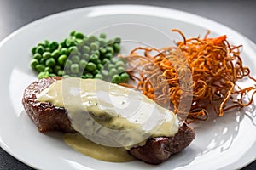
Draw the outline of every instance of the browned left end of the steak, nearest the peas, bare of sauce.
[[[32,82],[24,92],[22,104],[26,113],[38,126],[39,132],[57,130],[64,133],[75,132],[70,126],[67,111],[63,107],[55,107],[49,102],[38,102],[37,94],[50,84],[61,80],[61,77],[48,77]]]

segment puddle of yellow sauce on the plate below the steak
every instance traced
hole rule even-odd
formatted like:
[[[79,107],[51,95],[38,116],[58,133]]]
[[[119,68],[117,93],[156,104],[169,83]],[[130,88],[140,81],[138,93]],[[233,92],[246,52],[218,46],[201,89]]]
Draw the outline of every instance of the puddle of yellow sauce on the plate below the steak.
[[[84,136],[79,133],[66,133],[63,136],[63,140],[74,150],[97,160],[111,162],[126,162],[134,160],[134,158],[130,156],[127,153],[127,150],[123,147],[113,148],[103,146],[102,144],[96,144],[85,139]]]

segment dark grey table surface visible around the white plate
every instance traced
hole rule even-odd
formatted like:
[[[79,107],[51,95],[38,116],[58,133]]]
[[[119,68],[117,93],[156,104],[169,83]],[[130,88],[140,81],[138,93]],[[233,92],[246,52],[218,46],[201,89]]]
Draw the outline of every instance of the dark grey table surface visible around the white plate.
[[[183,10],[218,21],[256,42],[256,1],[254,0],[0,0],[0,41],[21,26],[49,14],[102,4],[145,4]],[[0,170],[2,169],[32,168],[0,148]],[[253,169],[256,169],[256,161],[243,168],[243,170]]]

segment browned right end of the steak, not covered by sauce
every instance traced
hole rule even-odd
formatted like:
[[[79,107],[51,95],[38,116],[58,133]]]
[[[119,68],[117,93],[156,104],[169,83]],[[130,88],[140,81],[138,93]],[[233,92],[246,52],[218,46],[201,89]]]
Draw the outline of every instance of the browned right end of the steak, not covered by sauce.
[[[183,123],[172,137],[150,138],[143,146],[131,148],[131,156],[150,164],[160,164],[186,148],[195,139],[195,130]]]

